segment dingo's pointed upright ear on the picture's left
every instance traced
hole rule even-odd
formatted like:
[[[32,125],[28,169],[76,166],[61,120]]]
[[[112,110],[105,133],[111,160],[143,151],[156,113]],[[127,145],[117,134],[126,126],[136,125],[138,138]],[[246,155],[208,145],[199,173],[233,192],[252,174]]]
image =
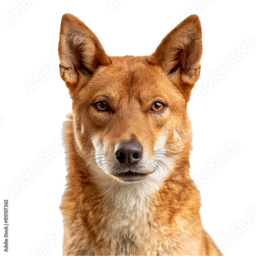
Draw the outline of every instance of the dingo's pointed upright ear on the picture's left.
[[[111,63],[97,36],[76,16],[62,16],[59,34],[59,70],[70,93],[90,79],[99,66]]]

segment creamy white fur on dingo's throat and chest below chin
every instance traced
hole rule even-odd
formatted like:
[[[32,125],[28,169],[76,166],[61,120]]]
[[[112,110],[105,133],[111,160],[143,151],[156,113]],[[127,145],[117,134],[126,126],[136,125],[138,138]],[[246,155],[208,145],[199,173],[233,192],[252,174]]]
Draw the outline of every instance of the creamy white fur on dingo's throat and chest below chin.
[[[162,184],[164,177],[153,174],[146,180],[133,184],[121,184],[102,170],[93,172],[104,198],[108,225],[98,233],[113,248],[110,254],[133,254],[133,250],[141,249],[143,253],[157,242],[154,240],[155,227],[150,223],[152,214],[152,198]],[[153,253],[154,254],[154,253]]]

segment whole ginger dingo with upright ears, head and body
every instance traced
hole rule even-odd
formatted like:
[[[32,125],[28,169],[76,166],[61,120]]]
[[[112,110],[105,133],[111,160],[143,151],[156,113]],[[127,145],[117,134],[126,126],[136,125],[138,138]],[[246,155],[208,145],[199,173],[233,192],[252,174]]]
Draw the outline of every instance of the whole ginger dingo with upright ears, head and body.
[[[59,69],[73,100],[63,129],[63,255],[221,255],[189,176],[186,106],[201,38],[191,15],[153,54],[111,57],[81,20],[63,15]]]

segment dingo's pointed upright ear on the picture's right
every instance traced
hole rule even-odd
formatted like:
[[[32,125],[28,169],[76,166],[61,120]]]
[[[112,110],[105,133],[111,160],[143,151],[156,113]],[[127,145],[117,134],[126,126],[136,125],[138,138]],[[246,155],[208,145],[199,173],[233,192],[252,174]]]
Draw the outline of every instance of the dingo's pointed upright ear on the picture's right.
[[[188,101],[200,75],[202,49],[201,23],[194,14],[163,38],[148,62],[161,66]]]

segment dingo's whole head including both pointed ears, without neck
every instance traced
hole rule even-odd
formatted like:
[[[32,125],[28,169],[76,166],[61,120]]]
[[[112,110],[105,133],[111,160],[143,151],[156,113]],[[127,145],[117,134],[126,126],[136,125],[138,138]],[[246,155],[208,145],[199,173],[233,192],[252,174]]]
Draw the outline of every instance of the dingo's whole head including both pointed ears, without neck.
[[[102,172],[130,183],[168,170],[166,159],[188,157],[186,105],[200,75],[201,37],[191,15],[152,55],[110,57],[86,25],[63,15],[60,75],[73,100],[75,148],[86,163],[91,154]]]

